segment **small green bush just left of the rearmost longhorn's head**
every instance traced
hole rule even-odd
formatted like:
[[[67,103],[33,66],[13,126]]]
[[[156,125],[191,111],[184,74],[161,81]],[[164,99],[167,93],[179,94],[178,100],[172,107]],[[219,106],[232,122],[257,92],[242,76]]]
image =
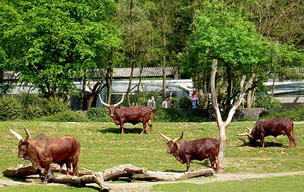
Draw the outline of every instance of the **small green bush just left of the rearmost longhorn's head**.
[[[109,111],[105,108],[90,108],[86,112],[86,117],[94,122],[113,122],[109,115]]]

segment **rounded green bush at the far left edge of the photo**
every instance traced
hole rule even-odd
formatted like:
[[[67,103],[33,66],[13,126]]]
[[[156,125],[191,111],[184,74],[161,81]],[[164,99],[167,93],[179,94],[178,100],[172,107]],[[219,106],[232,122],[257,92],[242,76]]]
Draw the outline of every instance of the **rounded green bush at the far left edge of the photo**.
[[[0,121],[11,121],[22,118],[22,106],[16,97],[8,96],[0,99]]]

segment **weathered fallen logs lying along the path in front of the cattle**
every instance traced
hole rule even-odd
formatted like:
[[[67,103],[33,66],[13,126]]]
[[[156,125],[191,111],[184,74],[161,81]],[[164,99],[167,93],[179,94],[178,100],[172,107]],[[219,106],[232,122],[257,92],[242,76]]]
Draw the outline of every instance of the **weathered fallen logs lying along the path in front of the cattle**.
[[[106,169],[103,172],[93,172],[87,169],[79,171],[80,177],[76,176],[55,176],[54,173],[66,174],[66,168],[57,164],[51,164],[50,171],[48,173],[48,179],[50,182],[56,183],[70,183],[70,184],[87,184],[96,183],[101,187],[101,191],[109,191],[111,186],[108,186],[104,181],[116,180],[122,177],[129,177],[138,180],[178,180],[182,178],[199,177],[203,175],[213,174],[213,169],[202,169],[198,171],[190,172],[161,172],[161,171],[150,171],[146,168],[138,168],[131,164],[119,165]],[[43,171],[42,171],[43,173]],[[72,171],[71,171],[72,173]],[[37,174],[37,168],[31,164],[27,165],[16,165],[3,171],[3,174],[8,177],[25,177]]]

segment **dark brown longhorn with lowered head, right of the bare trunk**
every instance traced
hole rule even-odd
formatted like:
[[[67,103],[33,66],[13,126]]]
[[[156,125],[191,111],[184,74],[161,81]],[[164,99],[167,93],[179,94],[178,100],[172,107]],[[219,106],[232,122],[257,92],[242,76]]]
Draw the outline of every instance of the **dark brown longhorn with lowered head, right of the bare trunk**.
[[[241,133],[235,134],[237,136],[248,136],[250,141],[250,146],[255,144],[255,141],[260,139],[259,148],[264,148],[265,141],[264,138],[267,136],[274,136],[277,137],[278,135],[287,135],[289,138],[289,147],[292,147],[292,142],[296,147],[295,138],[293,135],[293,122],[289,118],[281,117],[281,118],[274,118],[268,120],[258,120],[255,123],[253,129],[248,128],[245,125],[246,129],[248,129],[249,133]]]

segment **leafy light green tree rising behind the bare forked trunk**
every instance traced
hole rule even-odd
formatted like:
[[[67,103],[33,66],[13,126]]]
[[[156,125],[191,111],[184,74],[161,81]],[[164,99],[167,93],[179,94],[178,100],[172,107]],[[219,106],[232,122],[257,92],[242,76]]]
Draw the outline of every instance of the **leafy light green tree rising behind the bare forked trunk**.
[[[218,92],[223,94],[228,113],[238,97],[237,85],[242,75],[258,74],[253,86],[267,77],[269,43],[255,31],[243,10],[224,2],[210,2],[202,3],[201,11],[197,12],[193,23],[197,30],[193,33],[191,51],[185,54],[186,60],[197,61],[188,62],[185,67],[195,70],[194,75],[198,75],[211,71],[212,59],[218,60],[222,69],[218,75],[223,79]]]

